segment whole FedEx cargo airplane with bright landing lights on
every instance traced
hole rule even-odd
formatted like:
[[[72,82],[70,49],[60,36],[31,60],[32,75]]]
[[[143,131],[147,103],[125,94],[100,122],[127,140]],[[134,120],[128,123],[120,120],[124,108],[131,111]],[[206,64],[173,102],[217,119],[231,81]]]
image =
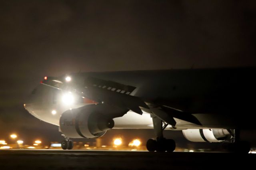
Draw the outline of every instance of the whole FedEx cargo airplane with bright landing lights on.
[[[70,138],[97,138],[110,129],[154,129],[150,152],[173,152],[163,130],[182,130],[192,142],[228,141],[250,151],[240,130],[255,126],[255,67],[71,73],[44,77],[24,104],[34,117]]]

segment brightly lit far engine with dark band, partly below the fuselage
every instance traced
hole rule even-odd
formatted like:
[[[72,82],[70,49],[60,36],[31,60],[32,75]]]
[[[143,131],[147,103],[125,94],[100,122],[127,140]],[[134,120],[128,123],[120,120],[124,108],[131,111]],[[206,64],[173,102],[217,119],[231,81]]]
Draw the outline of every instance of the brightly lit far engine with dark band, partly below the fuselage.
[[[229,135],[226,129],[186,129],[182,133],[191,142],[222,142]]]

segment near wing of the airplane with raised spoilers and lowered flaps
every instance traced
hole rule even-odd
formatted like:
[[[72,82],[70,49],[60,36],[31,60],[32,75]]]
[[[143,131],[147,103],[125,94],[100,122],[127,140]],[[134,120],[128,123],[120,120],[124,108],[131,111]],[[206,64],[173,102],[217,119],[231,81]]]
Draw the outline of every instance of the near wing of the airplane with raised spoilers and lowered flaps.
[[[47,80],[41,83],[62,91],[75,93],[76,95],[88,98],[97,103],[106,103],[123,109],[129,109],[140,115],[142,115],[142,109],[144,108],[148,113],[157,116],[173,127],[176,125],[176,121],[173,118],[201,125],[198,119],[190,113],[185,113],[163,105],[159,106],[154,103],[145,103],[140,97],[130,95],[136,87],[129,85],[94,77],[87,77],[83,83],[64,83],[64,81],[58,80],[56,77],[48,77]]]

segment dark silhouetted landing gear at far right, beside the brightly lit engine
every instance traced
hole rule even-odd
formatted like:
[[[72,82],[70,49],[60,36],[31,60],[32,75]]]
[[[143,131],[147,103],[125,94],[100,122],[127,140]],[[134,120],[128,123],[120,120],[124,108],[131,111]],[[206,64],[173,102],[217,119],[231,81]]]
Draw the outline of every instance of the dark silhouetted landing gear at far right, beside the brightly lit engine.
[[[231,141],[230,143],[224,143],[223,148],[229,152],[234,153],[248,153],[250,152],[250,143],[240,140],[240,130],[230,130]]]

